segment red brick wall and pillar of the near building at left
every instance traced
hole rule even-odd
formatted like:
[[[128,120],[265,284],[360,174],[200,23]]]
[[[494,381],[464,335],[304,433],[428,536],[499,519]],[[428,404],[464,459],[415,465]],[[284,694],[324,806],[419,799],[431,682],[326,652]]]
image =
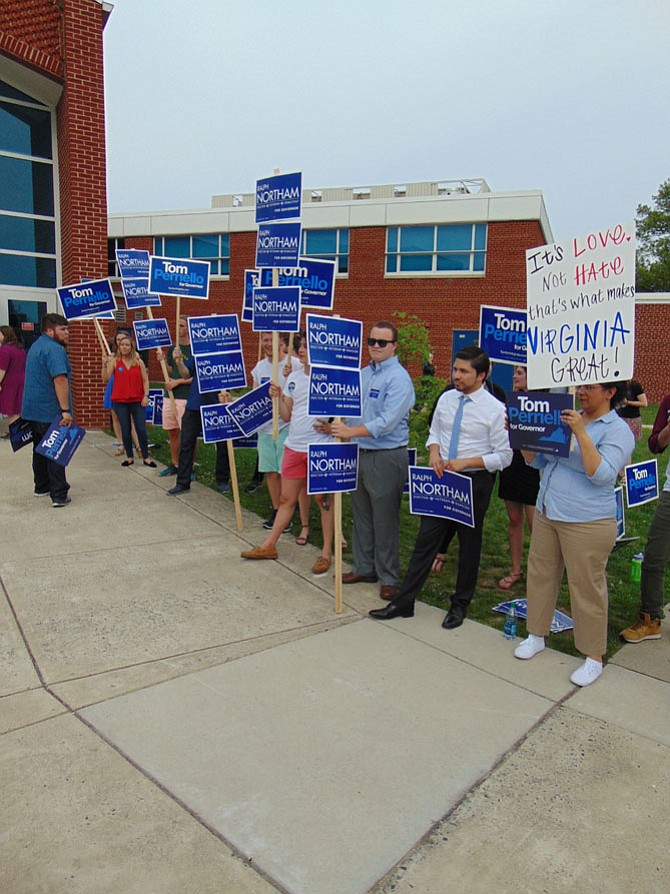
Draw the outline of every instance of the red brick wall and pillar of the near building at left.
[[[94,0],[2,0],[0,52],[63,84],[56,109],[62,282],[107,275],[103,11]],[[65,64],[63,64],[65,63]],[[106,424],[92,323],[70,327],[77,421]]]

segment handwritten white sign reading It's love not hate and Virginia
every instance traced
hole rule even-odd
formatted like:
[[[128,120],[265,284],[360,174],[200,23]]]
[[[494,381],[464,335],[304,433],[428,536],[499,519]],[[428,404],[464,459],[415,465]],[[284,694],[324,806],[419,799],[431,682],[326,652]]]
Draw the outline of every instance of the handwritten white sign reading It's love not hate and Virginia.
[[[528,386],[630,379],[635,225],[526,251]]]

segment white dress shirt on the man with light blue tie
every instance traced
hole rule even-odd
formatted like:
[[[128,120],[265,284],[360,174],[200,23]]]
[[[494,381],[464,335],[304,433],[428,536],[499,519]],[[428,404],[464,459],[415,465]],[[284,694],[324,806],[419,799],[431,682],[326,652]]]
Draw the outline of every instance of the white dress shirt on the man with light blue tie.
[[[461,392],[445,391],[437,402],[426,447],[437,444],[443,460],[449,457],[449,442]],[[481,387],[467,395],[463,407],[457,459],[481,456],[487,472],[499,472],[512,462],[512,448],[505,428],[505,405]],[[463,471],[468,471],[464,469]],[[473,467],[472,471],[476,471]]]

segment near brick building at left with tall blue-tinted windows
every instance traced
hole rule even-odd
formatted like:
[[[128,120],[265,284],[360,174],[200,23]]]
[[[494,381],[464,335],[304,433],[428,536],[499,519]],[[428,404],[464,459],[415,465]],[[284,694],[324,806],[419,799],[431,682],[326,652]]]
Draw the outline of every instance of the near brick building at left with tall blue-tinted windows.
[[[100,0],[0,3],[0,322],[30,344],[55,287],[106,276]],[[91,324],[70,334],[75,416],[105,424]]]

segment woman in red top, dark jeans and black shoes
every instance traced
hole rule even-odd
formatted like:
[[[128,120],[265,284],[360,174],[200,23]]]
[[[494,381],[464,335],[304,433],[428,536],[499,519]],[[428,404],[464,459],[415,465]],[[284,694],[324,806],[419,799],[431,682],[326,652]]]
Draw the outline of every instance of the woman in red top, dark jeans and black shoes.
[[[112,406],[119,417],[121,438],[126,451],[122,466],[133,465],[132,423],[140,442],[142,460],[145,466],[156,468],[149,457],[149,441],[145,407],[149,403],[149,376],[147,368],[135,350],[129,335],[120,334],[116,340],[116,355],[107,361],[107,378],[114,376],[112,385]]]

